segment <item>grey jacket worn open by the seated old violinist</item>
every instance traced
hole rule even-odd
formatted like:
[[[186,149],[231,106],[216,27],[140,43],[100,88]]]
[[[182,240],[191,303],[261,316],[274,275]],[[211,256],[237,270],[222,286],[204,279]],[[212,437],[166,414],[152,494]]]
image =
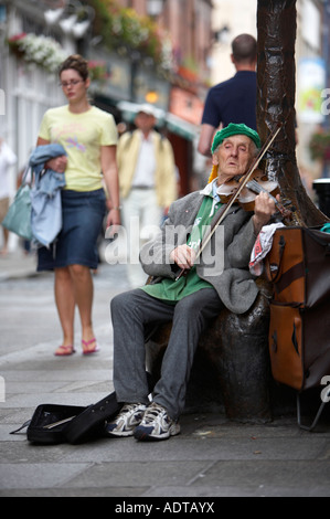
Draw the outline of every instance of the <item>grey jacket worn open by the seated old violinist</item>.
[[[140,262],[149,276],[175,279],[180,269],[169,256],[173,248],[187,243],[203,197],[195,191],[173,202],[159,234],[141,248]],[[233,204],[196,262],[199,276],[211,283],[224,305],[235,314],[247,311],[258,294],[248,271],[256,240],[252,215]]]

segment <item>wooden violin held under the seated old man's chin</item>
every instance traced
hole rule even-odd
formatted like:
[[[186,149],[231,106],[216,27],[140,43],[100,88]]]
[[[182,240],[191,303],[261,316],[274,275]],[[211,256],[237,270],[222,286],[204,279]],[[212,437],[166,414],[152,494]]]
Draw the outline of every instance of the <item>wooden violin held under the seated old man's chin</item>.
[[[234,177],[220,187],[217,194],[222,203],[228,203],[231,198],[235,195],[236,192],[238,192],[244,177],[245,176],[238,178]],[[281,216],[287,220],[291,219],[291,211],[286,209],[276,199],[276,195],[280,193],[279,186],[276,181],[268,180],[267,176],[260,169],[254,170],[249,179],[251,180],[245,183],[243,189],[239,190],[239,193],[236,198],[236,202],[241,205],[241,208],[243,208],[245,211],[253,211],[256,197],[262,192],[266,192],[268,197],[275,202],[275,205]]]

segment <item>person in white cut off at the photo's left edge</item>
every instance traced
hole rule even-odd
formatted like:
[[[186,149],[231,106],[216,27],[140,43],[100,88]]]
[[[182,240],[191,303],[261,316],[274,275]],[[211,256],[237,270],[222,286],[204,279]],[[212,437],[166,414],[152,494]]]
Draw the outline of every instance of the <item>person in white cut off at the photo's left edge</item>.
[[[8,146],[8,144],[0,137],[0,224],[3,221],[8,210],[12,189],[10,186],[10,167],[17,162],[18,158]],[[0,254],[6,256],[8,254],[8,229],[2,227],[2,248]]]

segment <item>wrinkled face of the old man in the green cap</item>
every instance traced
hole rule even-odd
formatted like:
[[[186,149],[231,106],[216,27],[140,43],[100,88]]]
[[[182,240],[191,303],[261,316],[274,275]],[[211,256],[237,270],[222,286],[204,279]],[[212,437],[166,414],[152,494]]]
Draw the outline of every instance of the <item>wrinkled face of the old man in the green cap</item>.
[[[219,177],[222,181],[236,174],[244,174],[254,158],[253,141],[245,135],[227,137],[213,155],[213,163],[219,165]]]

